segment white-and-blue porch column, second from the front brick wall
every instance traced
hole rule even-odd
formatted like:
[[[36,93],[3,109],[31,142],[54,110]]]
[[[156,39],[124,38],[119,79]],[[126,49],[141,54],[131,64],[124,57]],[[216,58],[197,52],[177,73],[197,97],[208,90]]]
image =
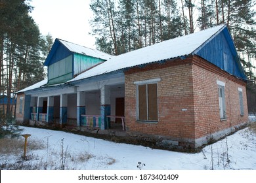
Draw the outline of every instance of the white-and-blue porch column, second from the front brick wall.
[[[81,114],[85,114],[85,92],[77,92],[77,110],[76,120],[77,126],[81,126]]]

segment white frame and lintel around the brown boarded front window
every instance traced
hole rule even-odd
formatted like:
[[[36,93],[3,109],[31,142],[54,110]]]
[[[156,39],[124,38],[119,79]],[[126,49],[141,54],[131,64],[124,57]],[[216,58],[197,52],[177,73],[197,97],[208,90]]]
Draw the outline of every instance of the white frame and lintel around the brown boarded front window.
[[[139,86],[141,85],[146,85],[146,98],[148,99],[148,84],[156,84],[156,92],[158,95],[158,82],[161,81],[161,78],[154,78],[150,80],[141,80],[141,81],[135,81],[133,84],[136,84],[136,119],[137,121],[141,122],[158,122],[158,120],[148,120],[148,100],[146,101],[146,106],[147,106],[147,120],[140,120],[139,119]],[[158,103],[158,101],[157,101]],[[159,112],[158,112],[158,117],[159,117]]]

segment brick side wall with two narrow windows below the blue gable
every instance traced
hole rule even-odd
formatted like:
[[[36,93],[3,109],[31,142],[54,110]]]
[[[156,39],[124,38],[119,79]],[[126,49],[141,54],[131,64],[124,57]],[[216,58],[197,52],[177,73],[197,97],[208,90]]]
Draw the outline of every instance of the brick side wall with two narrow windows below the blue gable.
[[[248,122],[246,83],[201,58],[193,60],[196,139]],[[217,80],[225,83],[226,120],[220,120]],[[243,90],[244,116],[240,116],[238,88]]]

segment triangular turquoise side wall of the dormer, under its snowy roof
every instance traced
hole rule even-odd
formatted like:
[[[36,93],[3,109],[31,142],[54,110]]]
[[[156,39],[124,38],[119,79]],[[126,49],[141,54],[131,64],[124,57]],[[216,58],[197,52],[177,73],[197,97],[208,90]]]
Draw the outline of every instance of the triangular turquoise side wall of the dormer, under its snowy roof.
[[[86,69],[93,67],[98,63],[102,63],[104,60],[100,58],[93,58],[89,56],[83,56],[81,54],[74,54],[74,75],[82,73]]]

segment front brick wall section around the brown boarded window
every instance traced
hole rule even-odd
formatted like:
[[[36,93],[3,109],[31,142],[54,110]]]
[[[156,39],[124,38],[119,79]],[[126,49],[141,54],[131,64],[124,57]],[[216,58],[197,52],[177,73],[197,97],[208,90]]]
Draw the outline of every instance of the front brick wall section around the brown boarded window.
[[[136,116],[135,81],[161,78],[158,82],[158,122],[139,122]],[[177,60],[154,63],[125,73],[125,121],[127,132],[194,139],[192,65]],[[182,111],[186,109],[186,111]]]

